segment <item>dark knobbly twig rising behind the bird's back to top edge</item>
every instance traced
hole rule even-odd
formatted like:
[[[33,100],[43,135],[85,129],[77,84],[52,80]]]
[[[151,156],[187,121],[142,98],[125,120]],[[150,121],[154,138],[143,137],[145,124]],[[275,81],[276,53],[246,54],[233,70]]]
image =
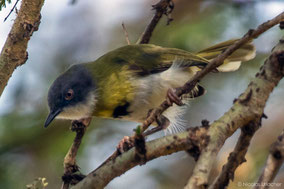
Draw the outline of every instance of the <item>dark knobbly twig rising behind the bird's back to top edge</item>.
[[[170,13],[173,11],[174,5],[172,0],[161,0],[159,3],[152,6],[155,9],[155,15],[153,16],[151,22],[146,27],[145,31],[142,33],[141,37],[137,41],[137,44],[149,43],[150,38],[157,24],[159,23],[162,16],[165,14],[168,16],[167,24],[172,21]]]

